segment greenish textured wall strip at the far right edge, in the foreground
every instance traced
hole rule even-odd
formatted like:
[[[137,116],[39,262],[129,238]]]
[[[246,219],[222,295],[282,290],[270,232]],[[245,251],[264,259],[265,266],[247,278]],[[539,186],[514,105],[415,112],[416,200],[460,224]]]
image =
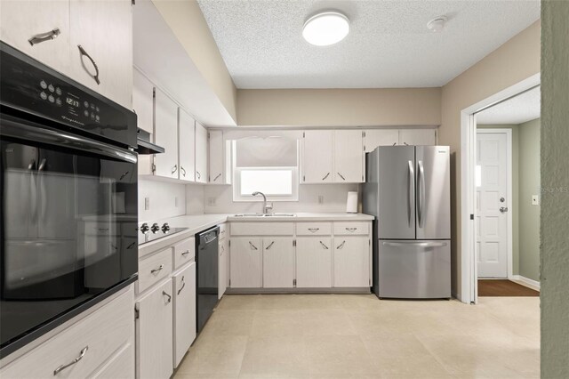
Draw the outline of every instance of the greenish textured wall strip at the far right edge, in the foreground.
[[[569,2],[542,1],[541,377],[569,377]]]

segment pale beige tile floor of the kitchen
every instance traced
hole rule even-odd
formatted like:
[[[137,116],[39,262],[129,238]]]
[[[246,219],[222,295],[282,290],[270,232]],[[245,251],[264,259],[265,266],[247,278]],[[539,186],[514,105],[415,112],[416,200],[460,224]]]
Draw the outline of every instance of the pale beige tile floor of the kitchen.
[[[536,297],[226,295],[174,377],[538,378]]]

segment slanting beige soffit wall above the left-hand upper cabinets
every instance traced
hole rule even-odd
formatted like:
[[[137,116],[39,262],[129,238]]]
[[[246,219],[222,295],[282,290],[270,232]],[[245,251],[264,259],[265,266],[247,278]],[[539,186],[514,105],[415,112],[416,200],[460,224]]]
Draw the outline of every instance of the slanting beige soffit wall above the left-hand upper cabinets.
[[[152,2],[229,115],[236,121],[236,86],[196,0]]]

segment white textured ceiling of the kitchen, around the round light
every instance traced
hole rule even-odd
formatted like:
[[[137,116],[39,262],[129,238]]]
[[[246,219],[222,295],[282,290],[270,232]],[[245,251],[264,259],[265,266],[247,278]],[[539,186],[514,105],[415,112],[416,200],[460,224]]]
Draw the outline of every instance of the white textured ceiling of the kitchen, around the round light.
[[[540,17],[539,0],[198,0],[238,88],[441,86]],[[336,9],[339,44],[313,46],[304,21]],[[426,25],[439,15],[442,33]]]

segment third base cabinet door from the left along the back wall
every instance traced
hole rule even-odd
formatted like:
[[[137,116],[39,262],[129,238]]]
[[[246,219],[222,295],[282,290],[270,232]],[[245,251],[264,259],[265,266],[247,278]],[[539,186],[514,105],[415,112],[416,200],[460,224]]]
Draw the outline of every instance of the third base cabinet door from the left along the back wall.
[[[296,286],[332,286],[332,238],[303,237],[296,240]]]

